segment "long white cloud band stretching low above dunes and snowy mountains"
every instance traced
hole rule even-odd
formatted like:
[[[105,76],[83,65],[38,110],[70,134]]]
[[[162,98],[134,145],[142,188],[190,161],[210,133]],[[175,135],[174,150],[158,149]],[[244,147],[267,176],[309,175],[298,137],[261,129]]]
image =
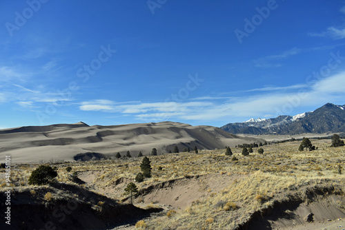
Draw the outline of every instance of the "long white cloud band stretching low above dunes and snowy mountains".
[[[319,105],[345,96],[345,72],[334,74],[314,85],[288,85],[284,87],[264,87],[247,97],[193,98],[186,102],[160,103],[115,103],[95,100],[81,103],[84,111],[117,112],[144,121],[166,121],[168,118],[210,121],[219,118],[272,117],[288,113],[286,108]]]

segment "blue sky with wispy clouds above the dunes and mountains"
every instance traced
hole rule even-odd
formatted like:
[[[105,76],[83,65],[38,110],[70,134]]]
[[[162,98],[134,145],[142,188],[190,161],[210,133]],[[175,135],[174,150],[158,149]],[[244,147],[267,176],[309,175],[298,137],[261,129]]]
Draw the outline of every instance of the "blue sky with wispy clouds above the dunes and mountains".
[[[345,100],[345,1],[0,2],[0,128],[221,126]]]

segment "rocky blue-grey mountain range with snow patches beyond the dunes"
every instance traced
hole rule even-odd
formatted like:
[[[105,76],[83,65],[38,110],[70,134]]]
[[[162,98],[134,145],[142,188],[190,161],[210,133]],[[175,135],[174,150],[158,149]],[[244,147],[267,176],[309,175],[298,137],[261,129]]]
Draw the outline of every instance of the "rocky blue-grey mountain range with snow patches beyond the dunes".
[[[230,134],[324,134],[345,132],[345,105],[327,103],[313,112],[276,118],[251,118],[243,123],[228,123],[221,129]]]

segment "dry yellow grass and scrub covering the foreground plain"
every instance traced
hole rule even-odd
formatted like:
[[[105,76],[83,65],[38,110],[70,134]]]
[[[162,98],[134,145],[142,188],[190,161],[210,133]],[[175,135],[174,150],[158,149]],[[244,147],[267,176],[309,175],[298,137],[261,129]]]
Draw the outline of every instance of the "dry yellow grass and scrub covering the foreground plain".
[[[251,213],[273,205],[275,200],[286,199],[286,194],[303,198],[302,187],[316,185],[339,185],[342,194],[345,176],[342,168],[345,163],[345,147],[331,147],[331,140],[313,140],[315,151],[299,151],[301,141],[291,141],[273,145],[253,147],[253,153],[242,154],[242,147],[229,150],[199,150],[149,156],[150,176],[142,182],[135,178],[143,171],[142,157],[116,160],[99,160],[89,162],[59,163],[56,167],[58,182],[76,184],[73,175],[85,171],[95,171],[95,178],[88,185],[93,191],[110,198],[122,200],[128,197],[124,188],[110,190],[118,184],[119,179],[126,178],[135,182],[137,189],[155,185],[158,182],[190,176],[215,174],[228,175],[238,179],[201,200],[195,200],[186,209],[176,209],[166,216],[150,220],[141,220],[138,227],[147,229],[235,229],[246,222]],[[258,153],[258,150],[260,153]],[[263,152],[263,153],[262,153]],[[12,169],[12,180],[18,189],[34,189],[28,185],[31,172],[38,165],[16,165]],[[1,187],[6,187],[4,179]],[[135,190],[135,189],[134,189]],[[108,191],[108,192],[107,192]],[[53,195],[52,195],[53,196]],[[137,200],[128,200],[139,205]],[[142,204],[141,204],[142,205]],[[152,206],[152,204],[147,204]],[[341,207],[344,208],[344,207]]]

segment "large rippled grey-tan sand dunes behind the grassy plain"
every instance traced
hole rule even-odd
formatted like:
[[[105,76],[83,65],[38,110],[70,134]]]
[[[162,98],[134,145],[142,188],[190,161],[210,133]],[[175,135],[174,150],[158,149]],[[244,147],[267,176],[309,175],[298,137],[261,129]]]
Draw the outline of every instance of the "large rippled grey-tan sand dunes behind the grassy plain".
[[[47,126],[28,126],[0,130],[0,157],[12,156],[15,163],[37,163],[40,160],[75,160],[75,156],[97,153],[110,157],[130,151],[150,154],[168,153],[175,145],[182,151],[224,148],[242,143],[263,141],[239,137],[212,126],[192,126],[183,123],[161,122],[130,125],[89,126],[85,123]],[[83,159],[83,158],[82,158]]]

